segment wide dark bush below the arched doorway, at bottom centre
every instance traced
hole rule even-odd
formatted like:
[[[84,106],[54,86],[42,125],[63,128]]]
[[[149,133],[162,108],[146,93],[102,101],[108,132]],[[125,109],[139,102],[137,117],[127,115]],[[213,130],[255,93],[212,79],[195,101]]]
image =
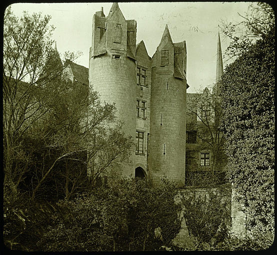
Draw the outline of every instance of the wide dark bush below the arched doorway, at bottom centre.
[[[121,179],[72,201],[61,200],[39,250],[149,251],[170,246],[180,231],[176,192],[170,183],[151,188],[141,179]]]

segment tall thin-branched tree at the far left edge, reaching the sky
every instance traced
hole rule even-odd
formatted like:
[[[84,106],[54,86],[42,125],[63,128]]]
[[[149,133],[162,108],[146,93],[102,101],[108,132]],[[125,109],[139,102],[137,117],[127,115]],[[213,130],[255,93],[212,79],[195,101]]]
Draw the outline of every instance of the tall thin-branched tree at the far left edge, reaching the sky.
[[[3,151],[4,187],[16,197],[28,171],[30,158],[22,140],[48,110],[53,87],[62,65],[53,58],[50,16],[24,12],[16,17],[5,10],[3,29]],[[46,64],[47,63],[47,64]]]

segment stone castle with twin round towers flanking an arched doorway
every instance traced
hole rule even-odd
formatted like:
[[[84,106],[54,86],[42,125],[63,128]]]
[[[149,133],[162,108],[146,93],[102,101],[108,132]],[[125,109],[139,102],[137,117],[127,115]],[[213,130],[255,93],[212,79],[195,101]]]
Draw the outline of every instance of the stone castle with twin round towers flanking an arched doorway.
[[[71,63],[69,71],[73,81],[89,84],[102,101],[115,103],[125,133],[136,141],[130,162],[122,166],[123,175],[145,177],[153,185],[167,178],[184,186],[186,141],[197,143],[186,132],[187,97],[197,97],[186,92],[186,41],[174,43],[166,25],[151,58],[143,41],[136,44],[136,28],[118,3],[107,16],[101,8],[93,15],[89,69]],[[217,82],[222,73],[219,39]],[[207,150],[202,154],[196,157],[207,168],[212,155]]]

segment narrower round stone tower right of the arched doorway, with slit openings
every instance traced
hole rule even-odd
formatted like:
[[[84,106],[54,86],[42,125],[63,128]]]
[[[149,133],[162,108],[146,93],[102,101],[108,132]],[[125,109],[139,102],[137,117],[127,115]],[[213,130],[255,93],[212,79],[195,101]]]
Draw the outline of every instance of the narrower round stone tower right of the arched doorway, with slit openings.
[[[166,25],[152,59],[149,181],[185,184],[186,43],[173,43]]]

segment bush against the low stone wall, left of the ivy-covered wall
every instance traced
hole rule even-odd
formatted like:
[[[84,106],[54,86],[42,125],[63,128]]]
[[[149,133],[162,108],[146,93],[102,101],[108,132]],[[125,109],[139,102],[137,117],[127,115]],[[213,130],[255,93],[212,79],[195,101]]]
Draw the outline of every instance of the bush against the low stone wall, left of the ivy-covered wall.
[[[184,219],[194,243],[192,250],[210,250],[227,238],[231,223],[227,189],[209,188],[207,192],[185,192],[182,196]]]

